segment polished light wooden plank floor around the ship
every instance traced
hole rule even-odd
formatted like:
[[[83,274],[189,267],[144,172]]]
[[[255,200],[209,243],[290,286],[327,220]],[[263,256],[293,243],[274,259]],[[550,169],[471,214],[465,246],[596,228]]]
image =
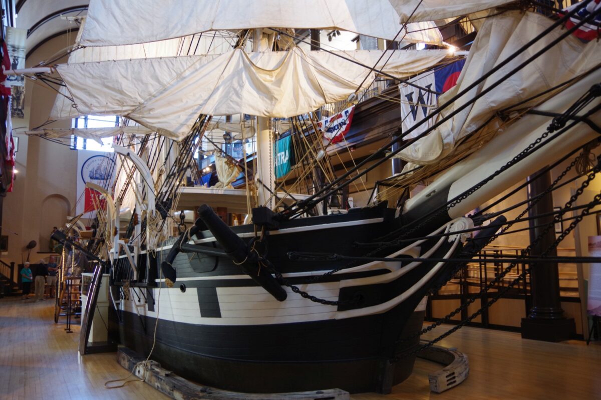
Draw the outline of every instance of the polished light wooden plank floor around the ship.
[[[78,357],[79,326],[55,324],[51,300],[0,299],[0,399],[166,399],[144,383],[105,389],[127,371],[115,353]],[[438,332],[428,335],[432,338]],[[447,392],[430,393],[423,360],[389,395],[363,393],[353,400],[389,399],[601,399],[601,344],[524,340],[517,333],[463,328],[441,343],[467,354],[468,379]],[[326,388],[324,388],[326,389]]]

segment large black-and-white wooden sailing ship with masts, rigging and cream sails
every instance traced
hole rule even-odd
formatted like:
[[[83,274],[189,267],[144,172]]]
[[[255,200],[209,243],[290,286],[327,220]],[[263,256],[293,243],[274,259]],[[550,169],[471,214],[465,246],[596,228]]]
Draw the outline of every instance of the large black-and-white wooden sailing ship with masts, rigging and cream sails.
[[[183,377],[241,392],[386,393],[410,375],[426,296],[515,222],[472,210],[575,157],[601,125],[600,45],[577,37],[596,35],[599,1],[552,17],[527,2],[442,3],[91,1],[69,63],[52,67],[64,83],[52,117],[116,114],[139,124],[110,133],[123,173],[117,188],[94,187],[108,203],[94,248],[110,260],[122,344],[152,349],[152,359]],[[317,135],[310,114],[323,104],[356,103],[376,76],[412,85],[462,58],[447,50],[305,52],[294,29],[436,44],[429,21],[467,14],[478,33],[436,109],[331,182],[280,196],[270,175],[274,118],[289,118],[299,137]],[[195,53],[225,31],[230,49]],[[230,227],[198,204],[196,221],[169,237],[201,138],[227,124],[218,116],[240,114],[256,116],[236,122],[239,137],[245,124],[257,135],[255,180],[245,190],[251,221]],[[299,128],[303,115],[311,122]],[[235,132],[228,123],[224,130]],[[313,167],[330,145],[317,136],[305,148]],[[316,211],[394,157],[409,163],[367,207]],[[398,196],[424,180],[416,196]],[[120,234],[127,188],[134,215]]]

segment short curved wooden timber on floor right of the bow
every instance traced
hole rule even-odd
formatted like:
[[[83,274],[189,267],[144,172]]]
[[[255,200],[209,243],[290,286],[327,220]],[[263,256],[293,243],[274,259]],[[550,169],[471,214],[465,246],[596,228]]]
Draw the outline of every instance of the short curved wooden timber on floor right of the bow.
[[[426,341],[422,341],[422,344],[425,343]],[[417,356],[424,360],[445,365],[445,368],[428,375],[432,392],[444,392],[462,383],[468,377],[468,356],[457,351],[456,348],[430,346],[420,351]]]

